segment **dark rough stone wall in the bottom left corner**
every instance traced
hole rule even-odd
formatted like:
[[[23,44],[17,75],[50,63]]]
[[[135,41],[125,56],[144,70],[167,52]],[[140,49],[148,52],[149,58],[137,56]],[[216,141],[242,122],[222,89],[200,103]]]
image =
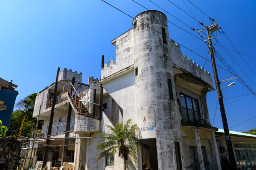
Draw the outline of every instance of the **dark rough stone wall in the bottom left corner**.
[[[0,170],[17,169],[21,144],[22,142],[15,136],[0,138]]]

